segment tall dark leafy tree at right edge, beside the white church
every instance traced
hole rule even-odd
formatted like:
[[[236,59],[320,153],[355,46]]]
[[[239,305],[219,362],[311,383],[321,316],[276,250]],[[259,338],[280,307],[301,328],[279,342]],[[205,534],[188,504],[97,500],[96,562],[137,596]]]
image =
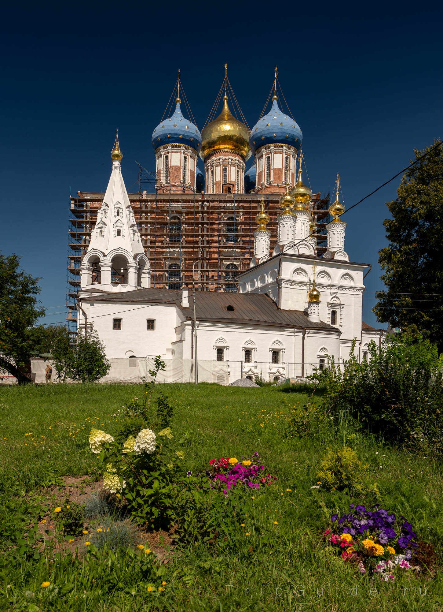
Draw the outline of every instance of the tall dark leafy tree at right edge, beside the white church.
[[[378,291],[378,321],[422,334],[443,350],[443,146],[439,144],[403,175],[397,200],[383,223],[389,246],[379,251],[387,291]],[[434,145],[435,146],[435,145]],[[415,150],[416,159],[430,151]]]

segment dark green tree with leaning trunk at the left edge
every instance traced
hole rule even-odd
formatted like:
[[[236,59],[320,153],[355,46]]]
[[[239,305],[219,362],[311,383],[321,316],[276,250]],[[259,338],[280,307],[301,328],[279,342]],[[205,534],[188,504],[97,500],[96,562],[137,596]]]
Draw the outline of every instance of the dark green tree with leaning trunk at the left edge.
[[[38,306],[39,278],[20,269],[18,255],[0,253],[0,368],[29,383],[19,368],[29,362],[32,352],[32,327],[45,309]]]

